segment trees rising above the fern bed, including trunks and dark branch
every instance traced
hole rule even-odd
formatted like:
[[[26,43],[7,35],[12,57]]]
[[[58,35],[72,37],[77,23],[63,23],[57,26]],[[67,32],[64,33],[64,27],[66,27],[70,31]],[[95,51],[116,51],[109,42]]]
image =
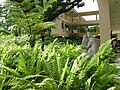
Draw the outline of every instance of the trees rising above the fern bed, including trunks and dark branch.
[[[75,6],[82,7],[82,0],[7,0],[1,6],[5,27],[15,36],[28,34],[31,47],[36,43],[36,35],[42,39],[44,50],[44,31],[54,26],[53,21],[61,13],[70,11]],[[11,28],[12,27],[12,28]]]

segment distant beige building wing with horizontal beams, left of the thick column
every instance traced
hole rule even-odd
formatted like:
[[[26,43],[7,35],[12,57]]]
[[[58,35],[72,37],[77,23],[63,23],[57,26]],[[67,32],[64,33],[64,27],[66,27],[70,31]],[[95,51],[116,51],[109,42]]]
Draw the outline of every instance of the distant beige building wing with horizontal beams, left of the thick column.
[[[99,24],[97,17],[96,20],[86,21],[83,18],[83,16],[87,16],[87,15],[98,15],[98,11],[78,13],[75,9],[72,9],[67,13],[61,14],[55,20],[56,26],[55,28],[52,28],[51,34],[55,36],[64,36],[64,37],[70,37],[76,35],[82,37],[85,33],[80,32],[79,30],[76,30],[73,27],[75,26],[87,27],[89,25]]]

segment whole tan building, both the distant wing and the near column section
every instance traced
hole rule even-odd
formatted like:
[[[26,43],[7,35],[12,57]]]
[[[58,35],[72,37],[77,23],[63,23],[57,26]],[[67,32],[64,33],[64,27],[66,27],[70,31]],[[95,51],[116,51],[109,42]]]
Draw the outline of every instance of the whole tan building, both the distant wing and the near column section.
[[[69,37],[73,33],[78,33],[70,30],[72,24],[99,25],[100,30],[97,34],[100,34],[101,43],[111,39],[111,34],[116,34],[118,40],[120,40],[120,0],[97,0],[97,2],[99,11],[78,13],[72,9],[70,12],[60,15],[56,19],[56,28],[51,31],[52,35]],[[96,15],[96,20],[86,21],[83,16],[87,15]],[[82,33],[79,35],[82,35]]]

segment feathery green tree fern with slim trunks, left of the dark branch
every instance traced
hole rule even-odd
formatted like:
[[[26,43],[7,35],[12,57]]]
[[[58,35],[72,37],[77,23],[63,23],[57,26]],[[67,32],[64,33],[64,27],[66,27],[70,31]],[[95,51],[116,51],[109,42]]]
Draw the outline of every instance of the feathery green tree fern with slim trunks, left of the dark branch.
[[[6,23],[11,23],[15,36],[19,36],[21,32],[28,34],[30,36],[30,45],[34,47],[36,35],[41,34],[42,50],[44,50],[43,31],[54,26],[54,23],[43,22],[43,13],[47,7],[42,7],[39,4],[40,1],[34,1],[32,3],[30,0],[23,1],[22,3],[7,1],[3,11],[8,11]],[[27,13],[24,12],[24,10],[28,10],[33,6],[35,6],[34,9],[31,9]]]

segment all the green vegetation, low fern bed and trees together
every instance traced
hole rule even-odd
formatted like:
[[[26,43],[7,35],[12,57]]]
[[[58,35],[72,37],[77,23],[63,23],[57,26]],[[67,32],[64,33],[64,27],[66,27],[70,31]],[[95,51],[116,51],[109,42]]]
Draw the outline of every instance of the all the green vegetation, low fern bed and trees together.
[[[70,39],[46,36],[44,41],[44,31],[55,25],[48,21],[82,6],[81,1],[7,0],[0,6],[4,18],[0,23],[0,90],[120,89],[116,65],[110,64],[115,59],[110,40],[92,58]]]

